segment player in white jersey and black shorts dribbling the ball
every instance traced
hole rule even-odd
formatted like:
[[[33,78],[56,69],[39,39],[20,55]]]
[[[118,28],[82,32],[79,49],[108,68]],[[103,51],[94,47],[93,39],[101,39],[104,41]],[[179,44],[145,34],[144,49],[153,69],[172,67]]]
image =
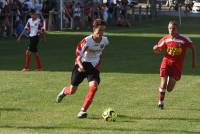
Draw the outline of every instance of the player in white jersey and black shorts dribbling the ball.
[[[94,95],[100,83],[99,67],[101,64],[102,52],[109,43],[108,38],[103,36],[106,23],[101,19],[93,22],[93,34],[85,37],[76,48],[75,66],[72,71],[71,85],[64,87],[58,94],[56,101],[60,103],[66,95],[72,95],[76,92],[79,84],[87,78],[89,82],[89,90],[78,118],[87,117],[87,109],[89,108]]]

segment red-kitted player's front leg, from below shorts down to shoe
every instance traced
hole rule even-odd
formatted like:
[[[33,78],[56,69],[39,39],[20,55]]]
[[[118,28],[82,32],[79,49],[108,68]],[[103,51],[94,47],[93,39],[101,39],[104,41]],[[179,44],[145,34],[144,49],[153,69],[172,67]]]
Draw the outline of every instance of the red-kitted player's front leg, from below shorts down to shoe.
[[[167,79],[168,77],[160,77],[160,87],[159,87],[159,101],[158,101],[158,107],[160,109],[164,108],[164,99],[165,99],[165,91],[167,86]]]

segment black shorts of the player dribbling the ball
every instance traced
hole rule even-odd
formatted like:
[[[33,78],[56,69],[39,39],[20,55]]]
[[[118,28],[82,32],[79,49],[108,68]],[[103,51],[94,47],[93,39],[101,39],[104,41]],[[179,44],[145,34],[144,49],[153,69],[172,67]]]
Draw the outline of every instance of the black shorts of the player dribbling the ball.
[[[100,83],[99,70],[93,67],[93,65],[90,62],[83,62],[82,64],[85,69],[85,72],[79,72],[78,71],[79,66],[75,65],[72,71],[71,84],[73,86],[78,86],[86,77],[88,82],[96,81],[99,84]]]

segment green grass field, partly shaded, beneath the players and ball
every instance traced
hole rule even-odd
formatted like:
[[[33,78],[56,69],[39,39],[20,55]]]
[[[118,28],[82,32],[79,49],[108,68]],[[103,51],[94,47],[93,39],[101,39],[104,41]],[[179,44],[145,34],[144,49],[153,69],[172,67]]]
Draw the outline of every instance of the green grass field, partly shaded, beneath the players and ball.
[[[21,72],[25,41],[0,38],[0,134],[199,134],[200,69],[191,69],[187,52],[184,73],[165,109],[157,109],[161,56],[153,45],[167,33],[169,18],[137,24],[132,28],[109,28],[110,44],[104,51],[101,84],[87,119],[76,114],[86,95],[84,81],[77,93],[57,104],[57,93],[70,83],[76,43],[89,32],[51,32],[40,42],[43,71]],[[200,58],[200,19],[184,18],[180,32],[191,37]],[[119,114],[105,122],[108,107]]]

